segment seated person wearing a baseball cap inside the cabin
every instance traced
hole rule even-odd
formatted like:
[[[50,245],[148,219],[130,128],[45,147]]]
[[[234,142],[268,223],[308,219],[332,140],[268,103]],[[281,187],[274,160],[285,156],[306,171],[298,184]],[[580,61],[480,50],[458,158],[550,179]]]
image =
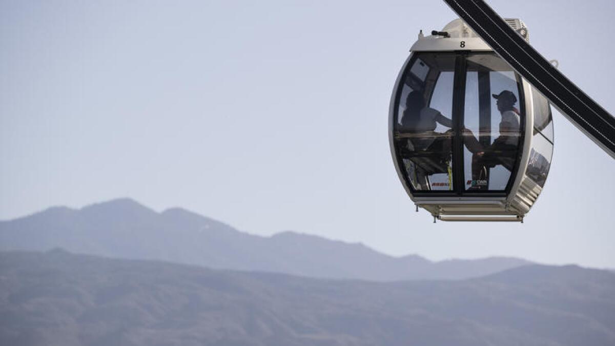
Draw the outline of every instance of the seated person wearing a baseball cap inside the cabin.
[[[488,168],[498,165],[512,171],[520,136],[520,112],[515,108],[517,96],[512,91],[492,95],[502,116],[499,123],[500,135],[491,145],[483,146],[472,131],[463,129],[464,143],[472,155],[472,180],[486,180]]]

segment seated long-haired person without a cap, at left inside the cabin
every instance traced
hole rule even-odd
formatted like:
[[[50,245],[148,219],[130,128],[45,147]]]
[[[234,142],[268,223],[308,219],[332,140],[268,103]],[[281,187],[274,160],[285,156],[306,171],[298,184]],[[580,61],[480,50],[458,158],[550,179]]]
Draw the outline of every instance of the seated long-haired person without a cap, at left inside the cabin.
[[[448,173],[452,130],[435,132],[438,123],[453,127],[451,119],[427,107],[421,92],[410,92],[399,128],[401,137],[407,139],[402,141],[402,155],[418,166],[416,173],[424,190],[428,188],[426,175]]]

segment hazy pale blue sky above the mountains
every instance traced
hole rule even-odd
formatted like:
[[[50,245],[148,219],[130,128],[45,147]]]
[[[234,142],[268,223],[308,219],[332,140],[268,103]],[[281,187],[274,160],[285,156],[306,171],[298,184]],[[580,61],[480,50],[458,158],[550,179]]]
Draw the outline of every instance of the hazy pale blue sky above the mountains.
[[[488,3],[615,112],[615,2]],[[394,255],[615,267],[615,160],[557,113],[525,223],[414,212],[389,98],[419,29],[454,18],[443,1],[1,1],[0,219],[129,196]]]

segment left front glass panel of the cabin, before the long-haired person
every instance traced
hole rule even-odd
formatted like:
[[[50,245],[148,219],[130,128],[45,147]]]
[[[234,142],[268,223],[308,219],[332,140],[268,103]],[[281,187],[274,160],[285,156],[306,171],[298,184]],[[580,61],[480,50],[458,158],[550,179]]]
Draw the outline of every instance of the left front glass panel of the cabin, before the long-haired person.
[[[413,190],[453,189],[454,62],[454,54],[417,54],[404,76],[394,139]]]

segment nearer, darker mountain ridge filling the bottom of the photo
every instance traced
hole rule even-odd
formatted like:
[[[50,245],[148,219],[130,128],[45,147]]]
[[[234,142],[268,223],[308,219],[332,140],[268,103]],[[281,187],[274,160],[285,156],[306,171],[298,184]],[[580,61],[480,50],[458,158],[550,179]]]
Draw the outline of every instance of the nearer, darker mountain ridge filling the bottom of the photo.
[[[615,275],[374,283],[0,253],[1,345],[615,345]]]

